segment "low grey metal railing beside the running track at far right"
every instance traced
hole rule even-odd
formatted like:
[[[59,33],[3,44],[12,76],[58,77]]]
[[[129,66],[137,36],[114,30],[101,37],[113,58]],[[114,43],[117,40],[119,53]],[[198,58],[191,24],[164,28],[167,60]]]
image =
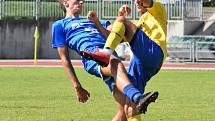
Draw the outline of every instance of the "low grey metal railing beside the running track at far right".
[[[214,36],[184,36],[167,43],[170,62],[215,62]]]

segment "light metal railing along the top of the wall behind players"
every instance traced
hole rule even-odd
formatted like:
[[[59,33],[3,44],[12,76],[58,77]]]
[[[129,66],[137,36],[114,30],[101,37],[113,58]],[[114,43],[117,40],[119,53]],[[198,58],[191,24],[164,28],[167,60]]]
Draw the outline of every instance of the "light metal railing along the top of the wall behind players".
[[[202,18],[202,0],[160,0],[164,4],[168,20]],[[100,19],[114,19],[121,5],[131,7],[130,19],[138,19],[134,0],[85,0],[81,14],[96,11]],[[0,0],[0,19],[4,18],[60,18],[64,13],[57,0]]]

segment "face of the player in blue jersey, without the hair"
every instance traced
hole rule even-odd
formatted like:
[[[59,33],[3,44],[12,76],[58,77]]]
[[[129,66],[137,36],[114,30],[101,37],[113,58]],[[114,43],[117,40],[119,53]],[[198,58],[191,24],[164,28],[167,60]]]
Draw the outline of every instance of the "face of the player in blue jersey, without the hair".
[[[67,0],[69,10],[74,14],[80,14],[83,7],[83,0]]]

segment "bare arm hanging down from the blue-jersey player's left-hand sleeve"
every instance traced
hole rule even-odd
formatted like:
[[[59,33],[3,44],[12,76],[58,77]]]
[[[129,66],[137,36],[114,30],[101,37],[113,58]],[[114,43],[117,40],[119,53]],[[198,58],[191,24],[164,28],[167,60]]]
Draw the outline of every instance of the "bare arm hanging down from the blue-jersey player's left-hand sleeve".
[[[88,100],[88,98],[90,97],[90,94],[87,90],[82,88],[81,83],[79,82],[79,80],[77,78],[77,75],[74,71],[73,65],[69,58],[68,48],[66,46],[63,46],[63,47],[58,47],[57,50],[60,55],[62,64],[63,64],[67,74],[69,75],[69,78],[75,89],[78,101],[82,102],[82,103],[86,102]]]

